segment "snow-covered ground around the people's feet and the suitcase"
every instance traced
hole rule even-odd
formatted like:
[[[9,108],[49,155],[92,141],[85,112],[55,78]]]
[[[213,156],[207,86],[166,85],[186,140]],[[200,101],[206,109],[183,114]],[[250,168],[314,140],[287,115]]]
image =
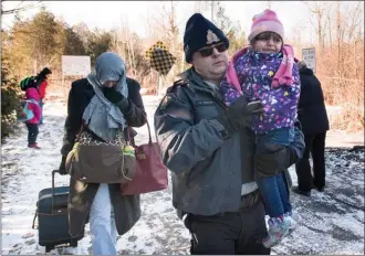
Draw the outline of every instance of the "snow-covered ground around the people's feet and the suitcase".
[[[159,98],[144,96],[148,120]],[[60,164],[65,102],[44,105],[44,124],[40,126],[41,150],[27,148],[27,129],[1,147],[1,255],[44,254],[38,245],[38,231],[32,230],[38,193],[51,185],[51,171]],[[138,131],[137,142],[147,141],[147,127]],[[154,135],[154,132],[153,132]],[[326,149],[327,188],[311,198],[292,194],[294,207],[302,216],[298,230],[273,249],[273,254],[359,254],[364,255],[364,135],[330,131]],[[334,148],[337,147],[337,148]],[[347,147],[347,148],[338,148]],[[296,174],[290,169],[294,184]],[[69,177],[56,177],[56,184],[66,185]],[[171,188],[142,196],[143,215],[124,236],[118,237],[118,254],[188,254],[189,233],[171,205]],[[91,254],[91,237],[76,248],[56,248],[49,254]]]

